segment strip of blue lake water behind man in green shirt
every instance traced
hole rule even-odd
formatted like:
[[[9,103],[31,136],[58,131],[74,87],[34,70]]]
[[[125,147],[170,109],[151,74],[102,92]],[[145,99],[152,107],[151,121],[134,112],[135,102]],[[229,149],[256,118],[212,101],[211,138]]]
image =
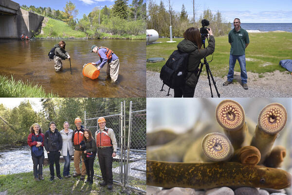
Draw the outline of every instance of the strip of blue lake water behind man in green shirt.
[[[292,23],[241,23],[245,30],[268,32],[268,31],[287,31],[292,32]],[[232,25],[232,28],[233,25]]]

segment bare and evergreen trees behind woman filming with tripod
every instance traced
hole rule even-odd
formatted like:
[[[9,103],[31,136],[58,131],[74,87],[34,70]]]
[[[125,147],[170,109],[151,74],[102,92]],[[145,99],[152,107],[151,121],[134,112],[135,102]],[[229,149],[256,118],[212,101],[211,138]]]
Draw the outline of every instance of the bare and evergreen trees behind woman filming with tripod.
[[[160,4],[158,5],[153,2],[153,0],[149,0],[147,6],[147,29],[156,30],[160,36],[170,36],[170,18],[173,36],[182,37],[183,32],[190,27],[201,28],[201,20],[203,18],[209,20],[210,25],[208,27],[212,28],[212,31],[216,36],[225,35],[231,29],[231,23],[224,22],[219,11],[216,14],[213,14],[210,9],[204,10],[203,14],[200,16],[200,19],[198,21],[194,21],[194,17],[188,16],[184,4],[182,5],[181,12],[175,12],[171,6],[169,9],[169,5],[165,8],[163,1],[160,1]]]

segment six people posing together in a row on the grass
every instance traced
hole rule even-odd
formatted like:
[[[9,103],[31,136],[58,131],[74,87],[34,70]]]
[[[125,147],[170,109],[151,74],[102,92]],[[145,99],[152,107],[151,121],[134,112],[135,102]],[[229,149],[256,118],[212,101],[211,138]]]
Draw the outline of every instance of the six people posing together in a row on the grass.
[[[92,184],[94,175],[93,164],[97,152],[103,178],[103,182],[100,185],[107,186],[111,190],[113,184],[112,158],[116,156],[117,151],[117,141],[114,131],[106,127],[104,117],[98,118],[99,129],[95,132],[95,138],[93,138],[90,130],[85,129],[81,125],[82,121],[80,118],[76,118],[74,123],[76,126],[75,130],[70,129],[69,122],[65,121],[63,124],[64,129],[58,131],[55,122],[51,122],[49,124],[49,130],[45,134],[42,133],[39,124],[32,124],[27,143],[31,147],[35,180],[44,180],[42,166],[45,147],[50,164],[50,181],[53,181],[55,178],[54,163],[56,176],[60,180],[63,179],[59,164],[60,155],[62,155],[65,160],[63,177],[71,177],[70,160],[74,156],[76,172],[73,174],[73,177],[80,176],[80,179],[84,180],[87,174],[86,182]],[[81,169],[80,160],[82,162]]]

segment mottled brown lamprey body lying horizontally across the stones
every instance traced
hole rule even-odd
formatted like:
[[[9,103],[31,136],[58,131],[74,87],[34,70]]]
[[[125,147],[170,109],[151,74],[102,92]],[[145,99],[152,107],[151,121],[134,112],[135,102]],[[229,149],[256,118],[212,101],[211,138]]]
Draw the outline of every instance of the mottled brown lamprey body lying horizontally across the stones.
[[[281,169],[238,162],[182,163],[147,160],[147,185],[164,188],[259,187],[283,189],[291,186],[291,175]]]

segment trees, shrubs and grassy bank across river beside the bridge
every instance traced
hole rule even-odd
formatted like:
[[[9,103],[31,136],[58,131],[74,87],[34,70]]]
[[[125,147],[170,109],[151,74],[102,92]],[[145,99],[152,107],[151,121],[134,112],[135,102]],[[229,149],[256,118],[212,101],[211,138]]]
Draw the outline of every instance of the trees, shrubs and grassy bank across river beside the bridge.
[[[37,37],[146,38],[146,3],[143,0],[133,0],[130,5],[127,0],[115,0],[112,7],[95,7],[81,19],[76,19],[78,9],[71,1],[67,2],[64,11],[33,5],[22,5],[21,8],[67,24],[60,26],[60,21],[49,19],[44,35]]]

